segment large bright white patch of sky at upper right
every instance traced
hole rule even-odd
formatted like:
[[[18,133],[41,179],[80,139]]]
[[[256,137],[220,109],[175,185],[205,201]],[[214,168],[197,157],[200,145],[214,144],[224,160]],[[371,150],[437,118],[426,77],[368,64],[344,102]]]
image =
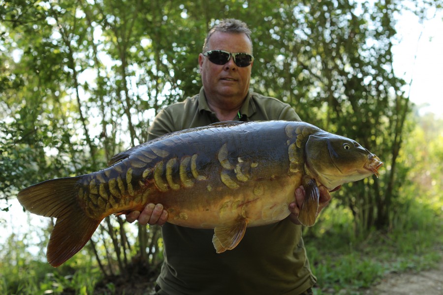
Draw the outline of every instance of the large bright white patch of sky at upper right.
[[[406,83],[412,79],[410,99],[420,107],[420,115],[432,112],[443,118],[443,13],[431,10],[427,17],[422,24],[408,11],[397,17],[393,67]]]

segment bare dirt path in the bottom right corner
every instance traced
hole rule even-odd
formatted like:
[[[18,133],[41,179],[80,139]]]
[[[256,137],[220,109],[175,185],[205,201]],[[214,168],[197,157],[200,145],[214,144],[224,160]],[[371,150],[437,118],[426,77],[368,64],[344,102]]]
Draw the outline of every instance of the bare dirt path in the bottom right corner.
[[[443,295],[443,262],[418,273],[390,274],[367,295]]]

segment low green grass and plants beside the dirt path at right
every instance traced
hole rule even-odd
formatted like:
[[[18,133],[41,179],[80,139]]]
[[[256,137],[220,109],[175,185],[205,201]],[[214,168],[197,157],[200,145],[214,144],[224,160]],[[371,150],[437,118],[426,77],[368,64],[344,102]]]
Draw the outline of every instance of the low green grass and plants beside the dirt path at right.
[[[402,213],[407,217],[393,218],[390,230],[360,235],[346,209],[329,208],[304,233],[317,277],[315,294],[365,294],[389,273],[418,272],[441,263],[442,216],[426,205],[413,205]]]

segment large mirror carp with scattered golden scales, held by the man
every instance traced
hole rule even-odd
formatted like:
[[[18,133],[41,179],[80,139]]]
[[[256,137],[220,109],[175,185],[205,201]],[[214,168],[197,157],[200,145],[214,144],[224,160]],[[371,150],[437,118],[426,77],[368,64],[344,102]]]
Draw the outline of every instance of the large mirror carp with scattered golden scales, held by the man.
[[[19,192],[28,211],[55,217],[47,248],[60,266],[110,214],[162,204],[167,222],[214,229],[217,253],[237,246],[247,226],[290,214],[295,189],[305,200],[299,220],[316,220],[319,189],[373,174],[383,163],[357,142],[300,121],[221,122],[166,134],[115,155],[107,168],[46,180]]]

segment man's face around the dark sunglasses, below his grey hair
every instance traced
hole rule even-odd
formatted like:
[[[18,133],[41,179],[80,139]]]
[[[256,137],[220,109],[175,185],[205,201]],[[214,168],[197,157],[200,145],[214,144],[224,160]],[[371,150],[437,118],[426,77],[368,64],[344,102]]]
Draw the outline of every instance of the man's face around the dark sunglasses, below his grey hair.
[[[244,33],[214,32],[209,38],[207,51],[224,50],[230,53],[252,54],[252,44]],[[200,54],[200,74],[207,97],[230,97],[242,100],[249,91],[252,64],[239,67],[231,57],[225,64],[212,63]]]

